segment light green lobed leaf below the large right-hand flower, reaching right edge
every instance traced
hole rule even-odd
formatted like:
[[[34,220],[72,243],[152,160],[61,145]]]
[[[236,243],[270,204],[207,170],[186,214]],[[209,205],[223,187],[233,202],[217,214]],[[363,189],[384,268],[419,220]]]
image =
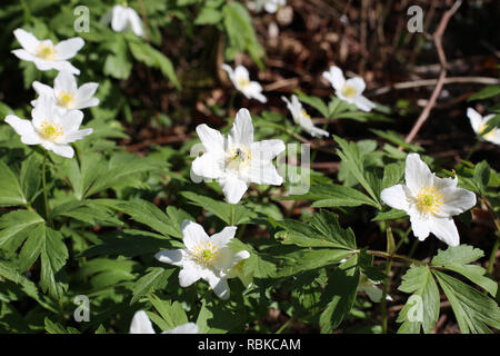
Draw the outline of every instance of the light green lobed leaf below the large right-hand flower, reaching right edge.
[[[494,297],[497,295],[498,285],[494,280],[484,276],[487,270],[481,266],[468,265],[482,256],[484,256],[484,253],[472,246],[449,246],[446,250],[438,250],[438,255],[432,258],[431,265],[461,274]]]

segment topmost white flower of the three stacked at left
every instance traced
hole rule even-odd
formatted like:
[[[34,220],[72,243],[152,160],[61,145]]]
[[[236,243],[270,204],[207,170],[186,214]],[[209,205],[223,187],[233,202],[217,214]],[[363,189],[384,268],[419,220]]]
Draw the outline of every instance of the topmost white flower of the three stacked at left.
[[[57,44],[51,40],[38,40],[32,33],[16,29],[13,31],[22,49],[12,51],[19,59],[33,62],[39,70],[67,70],[70,73],[79,75],[80,70],[74,68],[68,59],[73,58],[83,47],[84,41],[80,37],[73,37]]]

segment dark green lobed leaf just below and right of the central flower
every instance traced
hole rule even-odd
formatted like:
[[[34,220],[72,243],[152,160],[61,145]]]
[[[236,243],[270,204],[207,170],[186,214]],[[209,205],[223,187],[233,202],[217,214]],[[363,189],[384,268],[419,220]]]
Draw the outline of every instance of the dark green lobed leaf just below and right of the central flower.
[[[331,247],[348,251],[356,249],[354,233],[350,228],[342,229],[337,216],[328,210],[314,214],[308,224],[291,219],[277,224],[284,229],[278,233],[277,237],[281,238],[282,244],[286,245]]]

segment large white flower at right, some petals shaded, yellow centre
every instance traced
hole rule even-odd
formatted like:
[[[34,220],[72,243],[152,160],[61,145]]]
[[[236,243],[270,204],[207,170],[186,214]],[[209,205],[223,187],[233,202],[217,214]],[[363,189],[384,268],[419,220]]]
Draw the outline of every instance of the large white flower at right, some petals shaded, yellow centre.
[[[457,188],[458,178],[439,178],[418,154],[407,156],[406,185],[396,185],[381,192],[382,200],[410,216],[413,235],[424,240],[430,233],[449,246],[459,245],[452,216],[471,209],[476,195]]]

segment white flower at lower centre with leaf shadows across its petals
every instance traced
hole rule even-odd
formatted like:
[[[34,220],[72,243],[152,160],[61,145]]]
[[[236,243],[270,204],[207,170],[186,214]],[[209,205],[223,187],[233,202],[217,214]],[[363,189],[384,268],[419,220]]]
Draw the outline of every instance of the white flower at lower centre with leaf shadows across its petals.
[[[203,227],[184,220],[181,226],[186,248],[162,250],[154,257],[166,264],[182,267],[179,273],[181,287],[189,287],[198,279],[207,280],[221,299],[228,299],[230,291],[227,279],[229,270],[240,260],[249,258],[246,250],[234,253],[228,243],[234,237],[237,227],[228,226],[209,237]]]

